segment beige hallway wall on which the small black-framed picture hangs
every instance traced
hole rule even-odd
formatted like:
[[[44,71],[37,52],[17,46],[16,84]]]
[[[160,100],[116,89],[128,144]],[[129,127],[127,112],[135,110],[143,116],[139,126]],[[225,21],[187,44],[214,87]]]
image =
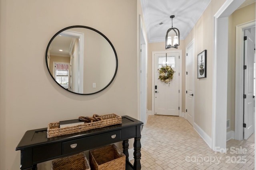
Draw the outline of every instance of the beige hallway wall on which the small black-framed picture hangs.
[[[185,47],[194,39],[195,59],[194,68],[197,68],[197,55],[207,50],[207,77],[197,78],[194,75],[194,122],[209,136],[212,136],[212,70],[213,70],[213,31],[214,14],[224,4],[225,0],[212,0],[194,28],[185,39]]]

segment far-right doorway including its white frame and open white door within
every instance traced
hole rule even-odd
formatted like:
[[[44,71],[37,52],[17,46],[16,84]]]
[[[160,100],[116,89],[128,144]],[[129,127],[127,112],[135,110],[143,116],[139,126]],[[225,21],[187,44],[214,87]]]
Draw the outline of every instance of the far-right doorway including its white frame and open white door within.
[[[248,46],[248,42],[249,44],[252,43],[251,46]],[[250,53],[249,55],[248,52]],[[236,107],[234,132],[234,139],[236,140],[248,139],[254,133],[254,96],[255,21],[250,21],[236,26]]]

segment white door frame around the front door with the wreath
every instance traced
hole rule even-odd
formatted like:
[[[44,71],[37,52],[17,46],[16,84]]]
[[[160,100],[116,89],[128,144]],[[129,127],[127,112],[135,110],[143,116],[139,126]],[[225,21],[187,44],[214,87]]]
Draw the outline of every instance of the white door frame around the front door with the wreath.
[[[152,51],[152,113],[155,113],[154,107],[155,107],[155,100],[154,100],[154,80],[155,80],[155,54],[159,53],[179,53],[180,59],[179,59],[179,116],[182,116],[182,50],[168,50],[168,51]]]

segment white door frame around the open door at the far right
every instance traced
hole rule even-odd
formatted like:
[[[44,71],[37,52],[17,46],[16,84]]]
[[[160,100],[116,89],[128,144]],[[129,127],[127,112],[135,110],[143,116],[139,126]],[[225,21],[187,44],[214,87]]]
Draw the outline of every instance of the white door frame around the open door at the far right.
[[[236,96],[235,139],[243,140],[243,94],[244,94],[244,29],[255,26],[255,20],[236,25]]]

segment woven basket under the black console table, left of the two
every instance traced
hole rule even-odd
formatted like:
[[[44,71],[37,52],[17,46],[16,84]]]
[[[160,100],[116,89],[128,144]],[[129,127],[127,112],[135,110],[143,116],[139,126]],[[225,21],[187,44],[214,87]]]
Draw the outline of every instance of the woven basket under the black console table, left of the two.
[[[90,165],[82,152],[52,161],[52,170],[90,170]]]

